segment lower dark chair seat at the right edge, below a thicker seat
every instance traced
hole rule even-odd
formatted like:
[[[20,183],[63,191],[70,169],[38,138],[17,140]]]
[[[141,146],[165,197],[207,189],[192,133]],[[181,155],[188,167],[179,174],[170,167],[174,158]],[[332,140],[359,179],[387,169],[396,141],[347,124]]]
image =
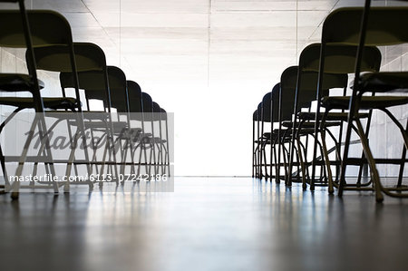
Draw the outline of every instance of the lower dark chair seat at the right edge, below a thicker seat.
[[[348,109],[350,96],[324,97],[322,105],[330,109]],[[408,96],[363,96],[360,109],[382,109],[408,103]]]

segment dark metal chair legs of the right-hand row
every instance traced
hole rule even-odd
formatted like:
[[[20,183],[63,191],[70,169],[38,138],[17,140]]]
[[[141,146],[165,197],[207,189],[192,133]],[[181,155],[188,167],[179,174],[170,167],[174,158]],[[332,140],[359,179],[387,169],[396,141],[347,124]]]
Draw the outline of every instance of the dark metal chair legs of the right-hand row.
[[[286,180],[287,185],[291,185],[291,182],[302,182],[304,189],[310,186],[310,189],[315,189],[316,186],[327,186],[329,193],[334,193],[335,189],[338,189],[339,193],[343,193],[344,190],[373,190],[376,195],[384,192],[386,195],[393,197],[405,196],[401,194],[406,190],[403,187],[403,169],[405,164],[406,146],[408,146],[407,127],[397,121],[391,112],[387,109],[383,110],[398,127],[403,135],[403,151],[402,159],[395,159],[393,163],[399,165],[398,181],[395,188],[384,189],[384,186],[379,181],[378,170],[376,164],[390,163],[390,160],[374,159],[373,154],[370,151],[368,136],[370,132],[371,124],[371,111],[369,117],[365,121],[365,125],[359,119],[355,120],[355,124],[351,125],[355,134],[358,135],[358,140],[350,140],[350,145],[361,144],[362,154],[360,159],[348,159],[348,164],[353,164],[358,167],[358,173],[355,175],[355,182],[347,182],[343,186],[340,185],[339,179],[341,173],[342,159],[341,153],[344,148],[342,143],[343,125],[341,125],[337,131],[338,135],[335,136],[335,132],[325,128],[325,118],[329,111],[325,112],[319,129],[319,138],[313,133],[302,134],[302,125],[305,121],[300,121],[296,133],[293,136],[293,141],[287,140],[287,132],[285,131],[280,137],[274,140],[267,137],[264,132],[264,121],[253,121],[253,164],[252,172],[253,177],[258,179],[275,179],[280,182],[281,179]],[[343,124],[343,123],[342,123]],[[327,140],[333,141],[333,146],[328,147]],[[317,153],[319,156],[310,157],[309,141],[316,140]],[[293,144],[294,158],[290,163],[290,149]],[[333,154],[332,154],[333,153]],[[280,154],[280,156],[279,156]],[[319,169],[319,172],[318,170]],[[334,170],[335,169],[335,170]],[[370,169],[371,176],[368,176],[368,169]],[[279,172],[284,172],[280,174]],[[290,181],[289,181],[290,180]]]

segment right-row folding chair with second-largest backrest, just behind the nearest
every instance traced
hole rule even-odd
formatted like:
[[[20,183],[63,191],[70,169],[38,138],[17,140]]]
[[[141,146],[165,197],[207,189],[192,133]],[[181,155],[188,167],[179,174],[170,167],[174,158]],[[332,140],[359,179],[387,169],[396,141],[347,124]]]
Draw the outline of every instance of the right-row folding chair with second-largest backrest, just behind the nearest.
[[[319,60],[320,60],[320,50],[321,50],[321,44],[310,44],[306,46],[306,48],[302,51],[299,57],[299,71],[300,73],[297,74],[297,88],[296,88],[296,97],[298,95],[298,92],[301,91],[299,89],[299,85],[303,84],[304,81],[302,81],[302,74],[307,73],[307,72],[318,72],[319,71]],[[356,53],[357,47],[356,46],[351,46],[351,45],[327,45],[325,48],[325,73],[322,73],[325,75],[325,78],[323,80],[323,83],[325,84],[323,86],[323,89],[333,89],[333,88],[342,88],[343,89],[343,95],[345,95],[346,88],[347,88],[347,74],[346,73],[352,73],[354,69],[354,63],[355,63],[355,53]],[[381,53],[376,47],[366,47],[364,48],[364,71],[377,71],[379,69],[380,63],[381,63]],[[320,97],[322,96],[322,93],[317,93],[317,78],[313,78],[307,83],[308,86],[306,86],[306,89],[308,89],[308,92],[312,92],[316,95],[316,100],[317,102],[317,107],[316,107],[316,112],[302,112],[298,114],[297,118],[299,121],[311,121],[315,120],[315,133],[314,133],[314,138],[316,140],[319,140],[319,134],[321,136],[321,144],[323,147],[323,153],[321,153],[320,160],[317,159],[316,155],[316,145],[317,141],[314,143],[314,152],[313,152],[313,159],[312,159],[312,176],[310,179],[310,187],[311,189],[314,189],[315,187],[315,174],[316,174],[316,165],[318,164],[319,166],[325,166],[326,167],[326,172],[327,172],[327,178],[328,178],[328,185],[329,185],[329,192],[333,192],[333,179],[332,179],[332,173],[330,169],[330,164],[336,165],[336,172],[338,176],[339,172],[339,160],[340,160],[340,145],[341,145],[341,138],[342,138],[342,131],[343,131],[343,121],[347,120],[347,113],[344,111],[342,112],[330,112],[331,108],[326,108],[325,113],[320,112],[321,108],[321,102],[320,102]],[[305,87],[303,87],[305,88]],[[328,92],[327,92],[328,93]],[[327,99],[331,99],[331,97],[328,97]],[[296,104],[295,104],[295,111],[297,111],[297,98],[296,98]],[[314,99],[315,100],[315,99]],[[303,101],[303,100],[302,100]],[[363,114],[360,113],[360,118],[369,118],[369,114]],[[323,121],[322,121],[323,120]],[[294,125],[296,125],[296,119],[294,121]],[[336,142],[335,137],[331,134],[330,131],[324,129],[325,128],[325,121],[341,121],[339,122],[339,136],[338,136],[338,141]],[[318,130],[316,130],[318,129]],[[325,144],[325,133],[328,133],[330,137],[335,141],[335,153],[337,160],[335,162],[330,162],[328,160],[328,151],[327,147]],[[324,159],[325,158],[325,159]],[[292,160],[292,159],[291,159]],[[290,176],[289,176],[289,184],[291,182]]]

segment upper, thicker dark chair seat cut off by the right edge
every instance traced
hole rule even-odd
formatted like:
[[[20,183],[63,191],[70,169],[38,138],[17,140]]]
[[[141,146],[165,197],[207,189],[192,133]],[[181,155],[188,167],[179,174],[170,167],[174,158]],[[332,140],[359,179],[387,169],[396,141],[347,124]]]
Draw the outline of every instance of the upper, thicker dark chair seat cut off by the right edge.
[[[368,92],[408,92],[408,72],[364,73],[358,87]]]

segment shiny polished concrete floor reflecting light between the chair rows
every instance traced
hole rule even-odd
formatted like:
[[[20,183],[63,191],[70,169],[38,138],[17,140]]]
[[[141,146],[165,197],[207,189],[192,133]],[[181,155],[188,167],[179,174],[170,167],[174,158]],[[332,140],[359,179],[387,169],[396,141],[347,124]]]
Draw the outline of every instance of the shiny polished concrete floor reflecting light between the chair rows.
[[[0,196],[0,270],[407,270],[408,200],[250,178]]]

